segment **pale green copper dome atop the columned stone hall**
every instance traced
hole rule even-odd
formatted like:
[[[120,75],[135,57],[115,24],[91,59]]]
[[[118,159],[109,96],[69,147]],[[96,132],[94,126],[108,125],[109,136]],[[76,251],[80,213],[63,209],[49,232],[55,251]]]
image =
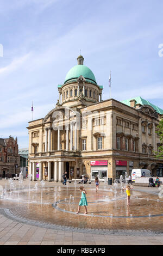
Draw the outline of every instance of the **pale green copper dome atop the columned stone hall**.
[[[65,83],[69,80],[76,79],[81,75],[88,81],[90,80],[90,82],[93,81],[96,83],[96,78],[93,72],[87,66],[84,65],[73,66],[73,68],[70,69],[66,75]]]

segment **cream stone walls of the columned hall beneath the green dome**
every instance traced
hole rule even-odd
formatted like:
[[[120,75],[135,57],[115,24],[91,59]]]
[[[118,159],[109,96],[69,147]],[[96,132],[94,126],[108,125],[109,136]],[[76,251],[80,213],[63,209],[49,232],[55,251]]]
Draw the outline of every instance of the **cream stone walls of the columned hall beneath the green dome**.
[[[150,169],[156,175],[159,165],[163,166],[154,156],[161,115],[153,107],[135,105],[134,100],[130,106],[114,99],[102,101],[102,87],[86,82],[82,75],[58,89],[55,108],[27,127],[33,180],[37,162],[39,179],[46,173],[48,181],[61,181],[64,171],[69,179],[82,174],[115,179],[133,168]]]

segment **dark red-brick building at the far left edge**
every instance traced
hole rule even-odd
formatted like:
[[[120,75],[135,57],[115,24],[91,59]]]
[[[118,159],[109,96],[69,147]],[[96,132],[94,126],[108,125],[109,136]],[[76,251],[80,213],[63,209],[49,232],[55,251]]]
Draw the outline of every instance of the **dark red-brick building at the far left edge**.
[[[0,138],[0,177],[12,178],[20,173],[17,138]]]

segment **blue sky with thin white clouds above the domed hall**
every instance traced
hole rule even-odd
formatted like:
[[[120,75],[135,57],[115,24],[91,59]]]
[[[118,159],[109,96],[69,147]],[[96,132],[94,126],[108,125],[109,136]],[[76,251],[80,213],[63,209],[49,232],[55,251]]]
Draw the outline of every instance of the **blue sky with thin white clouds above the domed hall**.
[[[103,100],[141,96],[163,109],[163,1],[1,0],[0,137],[28,147],[28,121],[55,107],[82,50]]]

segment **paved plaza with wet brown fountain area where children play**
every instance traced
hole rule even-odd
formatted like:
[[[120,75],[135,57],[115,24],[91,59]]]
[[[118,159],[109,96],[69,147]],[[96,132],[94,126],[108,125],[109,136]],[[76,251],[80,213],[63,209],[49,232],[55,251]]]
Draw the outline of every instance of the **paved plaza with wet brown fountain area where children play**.
[[[0,180],[0,185],[8,186],[7,182]],[[28,181],[23,182],[26,190]],[[95,185],[85,185],[88,215],[83,215],[84,209],[77,215],[79,185],[67,188],[45,182],[42,198],[39,186],[39,181],[31,182],[29,204],[29,193],[21,190],[12,200],[0,200],[0,245],[163,244],[163,200],[158,188],[134,187],[128,209],[120,184],[116,200],[113,186],[101,184],[96,193]]]

